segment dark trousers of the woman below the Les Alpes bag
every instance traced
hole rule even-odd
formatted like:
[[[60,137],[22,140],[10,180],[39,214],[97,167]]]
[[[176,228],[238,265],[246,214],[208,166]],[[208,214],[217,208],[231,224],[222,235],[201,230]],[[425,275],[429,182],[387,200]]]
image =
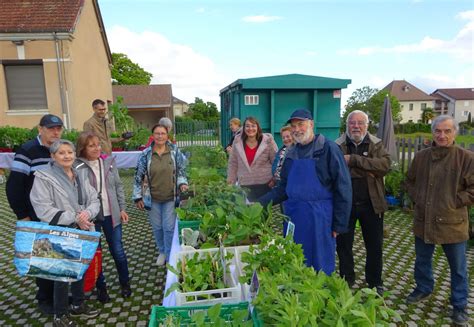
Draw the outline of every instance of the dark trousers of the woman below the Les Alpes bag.
[[[72,304],[79,306],[84,302],[84,279],[77,282],[54,282],[54,314],[65,315],[69,312],[69,285],[71,285]]]

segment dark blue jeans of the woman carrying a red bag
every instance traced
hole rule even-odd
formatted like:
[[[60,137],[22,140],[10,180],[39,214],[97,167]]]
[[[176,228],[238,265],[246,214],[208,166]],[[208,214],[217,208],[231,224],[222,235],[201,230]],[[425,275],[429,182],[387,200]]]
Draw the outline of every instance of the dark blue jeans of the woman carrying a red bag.
[[[96,222],[95,224],[96,231],[100,232],[102,229],[104,230],[105,239],[107,240],[107,244],[109,245],[110,254],[112,254],[112,258],[114,258],[115,267],[117,268],[120,284],[128,284],[130,277],[128,274],[127,255],[125,254],[125,250],[123,248],[122,243],[122,224],[115,226],[114,228],[112,217],[105,216],[104,221]],[[96,282],[97,288],[106,287],[103,268],[104,267],[102,264],[102,269]]]

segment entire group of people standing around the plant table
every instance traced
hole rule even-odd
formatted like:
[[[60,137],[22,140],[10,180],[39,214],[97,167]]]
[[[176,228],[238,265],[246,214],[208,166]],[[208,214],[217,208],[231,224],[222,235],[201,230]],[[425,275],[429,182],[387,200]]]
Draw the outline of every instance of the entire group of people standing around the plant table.
[[[114,259],[121,295],[130,297],[130,275],[122,243],[127,223],[125,195],[113,157],[111,127],[105,102],[94,100],[94,115],[84,124],[77,146],[61,139],[62,120],[45,115],[39,135],[15,154],[7,182],[7,197],[20,220],[43,221],[83,230],[103,231]],[[147,209],[157,250],[156,263],[169,260],[175,227],[174,208],[188,188],[186,158],[170,141],[172,126],[160,121],[138,159],[133,200]],[[247,190],[250,202],[282,203],[295,224],[294,240],[302,244],[306,264],[331,274],[336,253],[339,273],[355,283],[352,245],[357,221],[367,251],[365,280],[383,295],[383,215],[387,210],[383,177],[390,156],[380,139],[368,132],[362,111],[347,117],[346,133],[335,142],[314,133],[312,114],[295,110],[280,130],[283,146],[264,133],[257,119],[240,127],[233,118],[227,182]],[[467,207],[474,204],[474,155],[454,139],[457,124],[450,116],[432,123],[433,144],[420,151],[408,171],[407,190],[415,206],[416,288],[407,302],[417,303],[433,292],[432,255],[441,244],[451,269],[453,321],[468,323],[466,241]],[[41,312],[54,314],[54,326],[74,326],[70,316],[95,317],[85,304],[83,281],[65,283],[36,279]],[[110,301],[103,270],[96,282],[97,298]],[[69,291],[72,297],[69,299]]]

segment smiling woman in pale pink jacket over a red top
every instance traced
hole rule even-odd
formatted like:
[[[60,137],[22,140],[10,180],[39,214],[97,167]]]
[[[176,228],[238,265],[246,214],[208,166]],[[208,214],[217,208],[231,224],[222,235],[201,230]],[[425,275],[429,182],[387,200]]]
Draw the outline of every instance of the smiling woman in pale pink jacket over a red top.
[[[227,182],[246,188],[249,201],[255,201],[273,186],[272,163],[277,150],[273,136],[263,133],[254,117],[247,117],[242,133],[234,139]]]

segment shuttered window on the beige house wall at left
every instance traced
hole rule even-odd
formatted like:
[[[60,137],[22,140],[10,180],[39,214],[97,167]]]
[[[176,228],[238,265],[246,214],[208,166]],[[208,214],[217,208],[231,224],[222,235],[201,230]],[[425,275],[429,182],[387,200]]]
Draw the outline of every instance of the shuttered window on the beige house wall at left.
[[[41,60],[2,61],[10,110],[48,108]]]

